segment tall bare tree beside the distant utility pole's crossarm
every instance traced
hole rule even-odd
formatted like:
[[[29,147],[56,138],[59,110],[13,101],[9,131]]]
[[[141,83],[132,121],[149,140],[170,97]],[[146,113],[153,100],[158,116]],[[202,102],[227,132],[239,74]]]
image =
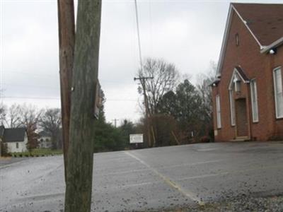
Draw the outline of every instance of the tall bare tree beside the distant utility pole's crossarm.
[[[158,102],[169,90],[175,88],[178,83],[179,73],[174,64],[168,64],[163,59],[148,58],[144,62],[142,69],[138,72],[139,78],[145,76],[153,79],[141,81],[141,86],[146,90],[146,97],[149,105],[149,113],[156,114]]]

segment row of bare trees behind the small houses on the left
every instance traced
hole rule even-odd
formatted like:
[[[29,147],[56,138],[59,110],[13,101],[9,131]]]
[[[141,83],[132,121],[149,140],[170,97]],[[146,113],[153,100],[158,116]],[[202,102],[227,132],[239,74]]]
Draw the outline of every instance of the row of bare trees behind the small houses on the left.
[[[24,127],[28,136],[28,150],[38,147],[40,131],[45,131],[51,137],[53,149],[62,148],[59,108],[39,110],[34,105],[0,105],[0,125],[6,128]]]

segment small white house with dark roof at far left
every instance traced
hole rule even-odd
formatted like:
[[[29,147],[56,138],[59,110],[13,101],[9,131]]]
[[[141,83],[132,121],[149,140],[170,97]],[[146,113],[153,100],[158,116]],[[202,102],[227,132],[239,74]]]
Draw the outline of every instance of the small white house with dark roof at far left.
[[[2,139],[7,144],[9,153],[28,151],[28,136],[25,128],[5,128]]]

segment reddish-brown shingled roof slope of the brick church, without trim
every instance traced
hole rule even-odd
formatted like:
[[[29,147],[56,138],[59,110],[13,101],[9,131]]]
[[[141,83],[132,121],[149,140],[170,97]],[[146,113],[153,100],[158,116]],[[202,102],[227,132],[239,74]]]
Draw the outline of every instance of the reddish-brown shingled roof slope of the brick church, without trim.
[[[283,4],[232,4],[262,46],[283,37]]]

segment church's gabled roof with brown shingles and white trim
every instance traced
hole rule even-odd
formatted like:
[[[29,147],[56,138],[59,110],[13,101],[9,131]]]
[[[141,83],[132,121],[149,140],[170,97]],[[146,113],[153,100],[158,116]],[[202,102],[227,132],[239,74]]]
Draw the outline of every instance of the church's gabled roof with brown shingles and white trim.
[[[231,3],[226,21],[217,73],[220,75],[232,14],[235,12],[258,43],[261,53],[283,45],[283,4]]]

